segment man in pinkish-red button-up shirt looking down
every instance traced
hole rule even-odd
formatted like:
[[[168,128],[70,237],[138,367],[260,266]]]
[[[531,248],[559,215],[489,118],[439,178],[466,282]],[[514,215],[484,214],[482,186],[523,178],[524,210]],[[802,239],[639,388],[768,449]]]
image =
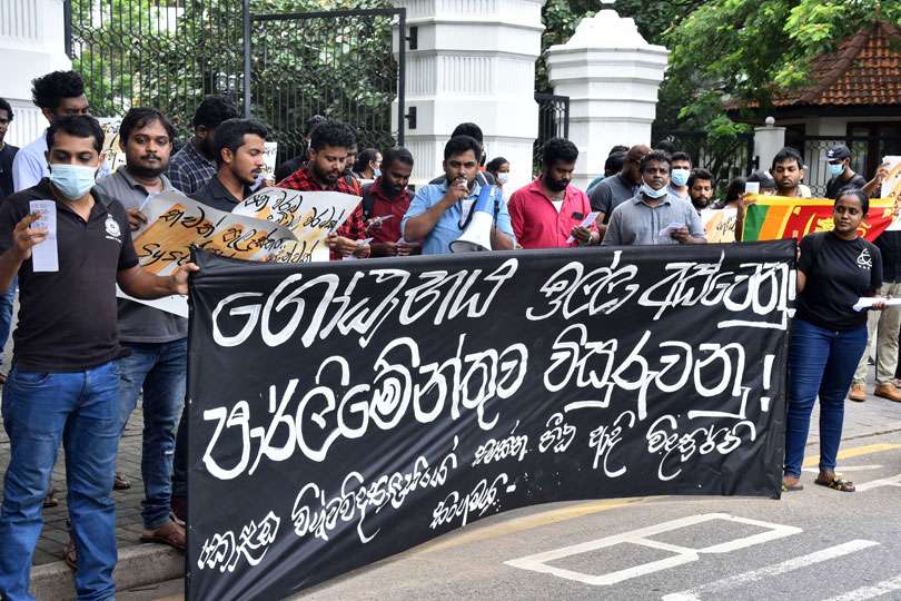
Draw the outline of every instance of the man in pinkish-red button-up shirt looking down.
[[[588,197],[570,185],[577,158],[573,142],[551,138],[542,148],[542,174],[511,196],[509,219],[523,248],[566,248],[600,242],[595,224],[582,226],[592,210]]]

